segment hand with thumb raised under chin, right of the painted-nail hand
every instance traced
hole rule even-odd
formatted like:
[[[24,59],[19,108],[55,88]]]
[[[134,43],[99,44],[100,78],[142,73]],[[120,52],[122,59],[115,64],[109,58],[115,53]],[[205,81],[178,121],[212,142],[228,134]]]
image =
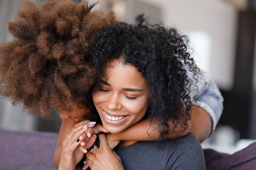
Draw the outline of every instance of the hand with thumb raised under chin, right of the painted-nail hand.
[[[86,153],[86,164],[83,170],[90,168],[92,170],[121,170],[124,169],[120,157],[115,151],[112,151],[108,146],[107,138],[104,134],[99,134],[100,148],[95,148],[92,153]]]

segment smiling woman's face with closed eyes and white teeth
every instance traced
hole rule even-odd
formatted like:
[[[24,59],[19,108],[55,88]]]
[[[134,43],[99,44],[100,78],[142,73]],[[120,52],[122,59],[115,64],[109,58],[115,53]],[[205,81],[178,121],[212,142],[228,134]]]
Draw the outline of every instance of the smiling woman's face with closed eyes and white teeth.
[[[119,60],[107,63],[93,103],[105,129],[118,133],[140,121],[149,107],[150,88],[136,67]]]

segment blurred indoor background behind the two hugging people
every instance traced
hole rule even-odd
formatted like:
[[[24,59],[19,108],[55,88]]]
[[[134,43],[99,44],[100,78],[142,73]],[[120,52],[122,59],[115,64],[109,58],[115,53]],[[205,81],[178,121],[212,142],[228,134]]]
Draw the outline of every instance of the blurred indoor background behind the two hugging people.
[[[4,23],[14,18],[19,6],[20,0],[0,0],[0,42],[12,40]],[[95,9],[113,10],[128,22],[143,12],[153,23],[187,34],[197,64],[212,75],[224,97],[215,133],[219,136],[209,140],[223,144],[225,139],[227,145],[234,145],[239,138],[256,139],[255,0],[100,0]],[[58,111],[53,114],[55,121],[43,120],[28,116],[22,106],[0,100],[1,128],[58,131],[61,120]]]

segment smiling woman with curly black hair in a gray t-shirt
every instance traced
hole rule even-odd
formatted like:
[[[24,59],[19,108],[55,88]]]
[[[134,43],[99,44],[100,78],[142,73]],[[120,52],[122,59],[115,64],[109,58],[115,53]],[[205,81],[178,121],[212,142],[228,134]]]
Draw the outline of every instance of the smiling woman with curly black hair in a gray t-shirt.
[[[83,169],[205,169],[203,150],[194,135],[165,140],[176,128],[169,127],[169,119],[185,126],[190,119],[188,94],[193,84],[187,70],[196,77],[198,68],[186,40],[173,28],[145,24],[143,15],[136,19],[136,25],[117,22],[95,36],[91,55],[98,79],[92,100],[109,133],[148,119],[160,132],[159,142],[123,140],[116,154],[100,134],[99,148],[86,154]],[[82,135],[82,126],[73,133],[76,137]],[[75,149],[78,144],[72,143]]]

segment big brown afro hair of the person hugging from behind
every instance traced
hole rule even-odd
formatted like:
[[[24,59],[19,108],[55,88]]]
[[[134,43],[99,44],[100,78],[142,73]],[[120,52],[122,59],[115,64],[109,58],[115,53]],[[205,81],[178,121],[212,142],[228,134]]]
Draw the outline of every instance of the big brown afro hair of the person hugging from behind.
[[[51,118],[52,107],[85,104],[96,76],[89,67],[92,39],[116,21],[113,11],[91,11],[97,3],[22,1],[18,18],[6,21],[14,40],[0,44],[0,94],[43,118]]]

